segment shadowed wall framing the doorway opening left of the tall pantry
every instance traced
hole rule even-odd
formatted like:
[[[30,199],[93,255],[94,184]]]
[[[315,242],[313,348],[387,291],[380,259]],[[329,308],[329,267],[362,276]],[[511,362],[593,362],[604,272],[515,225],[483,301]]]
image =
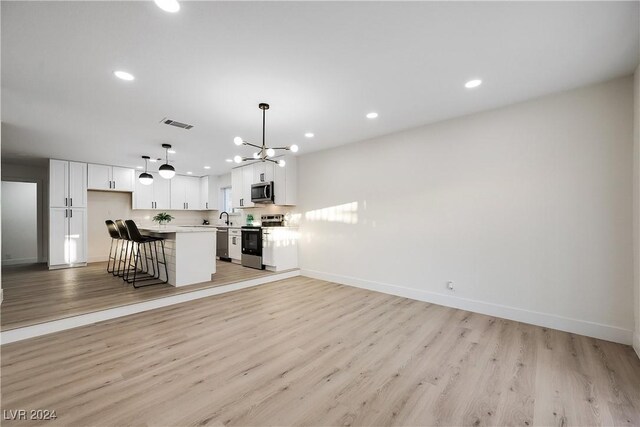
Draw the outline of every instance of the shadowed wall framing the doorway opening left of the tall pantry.
[[[49,169],[41,166],[2,163],[2,180],[35,182],[38,185],[38,262],[47,262],[49,253]]]

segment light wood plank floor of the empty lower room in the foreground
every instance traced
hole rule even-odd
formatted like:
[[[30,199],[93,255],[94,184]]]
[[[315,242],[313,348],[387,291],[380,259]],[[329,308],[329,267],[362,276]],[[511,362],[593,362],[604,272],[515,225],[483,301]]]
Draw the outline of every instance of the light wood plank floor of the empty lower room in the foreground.
[[[640,425],[629,346],[304,277],[0,351],[48,425]]]

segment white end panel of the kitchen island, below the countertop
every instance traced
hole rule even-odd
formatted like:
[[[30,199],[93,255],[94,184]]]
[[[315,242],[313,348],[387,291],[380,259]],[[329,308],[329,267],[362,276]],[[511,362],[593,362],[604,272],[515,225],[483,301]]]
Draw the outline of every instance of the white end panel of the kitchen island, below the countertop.
[[[168,265],[169,283],[177,287],[210,281],[216,272],[216,233],[176,233],[173,236],[171,256],[167,254],[167,259],[173,261]]]

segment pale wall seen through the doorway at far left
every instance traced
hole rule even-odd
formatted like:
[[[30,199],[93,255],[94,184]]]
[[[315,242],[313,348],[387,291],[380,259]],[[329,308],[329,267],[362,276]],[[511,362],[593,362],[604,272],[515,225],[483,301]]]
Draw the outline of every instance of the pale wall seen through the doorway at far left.
[[[2,265],[38,261],[37,184],[2,181]]]

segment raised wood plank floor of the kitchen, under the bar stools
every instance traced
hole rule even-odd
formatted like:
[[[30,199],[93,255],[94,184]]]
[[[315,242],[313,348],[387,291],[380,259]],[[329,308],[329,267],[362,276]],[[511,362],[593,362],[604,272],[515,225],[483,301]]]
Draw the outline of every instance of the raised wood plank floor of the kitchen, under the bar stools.
[[[179,288],[167,284],[134,289],[106,272],[107,263],[49,271],[45,264],[3,267],[1,327],[6,331],[274,273],[218,261],[210,282]]]

